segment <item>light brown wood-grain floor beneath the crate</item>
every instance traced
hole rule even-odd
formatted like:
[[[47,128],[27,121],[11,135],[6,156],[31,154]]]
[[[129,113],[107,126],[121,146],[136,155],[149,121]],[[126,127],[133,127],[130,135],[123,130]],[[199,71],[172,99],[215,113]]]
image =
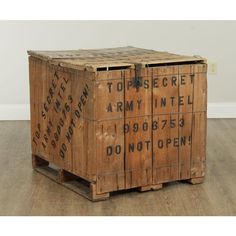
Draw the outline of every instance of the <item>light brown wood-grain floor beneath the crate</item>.
[[[203,184],[92,203],[32,170],[29,121],[0,122],[0,215],[236,215],[236,119],[209,119]]]

